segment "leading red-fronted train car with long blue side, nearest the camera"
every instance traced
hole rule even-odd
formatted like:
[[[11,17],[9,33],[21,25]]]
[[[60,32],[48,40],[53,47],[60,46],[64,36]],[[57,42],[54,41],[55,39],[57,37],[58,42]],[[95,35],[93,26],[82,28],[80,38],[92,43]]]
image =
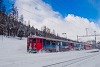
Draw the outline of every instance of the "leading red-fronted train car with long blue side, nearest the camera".
[[[58,52],[74,49],[73,41],[52,39],[39,36],[31,36],[27,38],[27,51],[37,53],[39,51]]]

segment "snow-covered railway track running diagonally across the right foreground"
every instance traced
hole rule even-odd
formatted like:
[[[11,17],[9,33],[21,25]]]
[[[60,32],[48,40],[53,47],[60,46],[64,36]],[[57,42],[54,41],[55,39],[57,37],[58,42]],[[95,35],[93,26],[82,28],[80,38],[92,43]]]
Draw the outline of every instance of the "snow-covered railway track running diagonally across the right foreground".
[[[96,55],[98,55],[98,54],[93,53],[92,55],[87,55],[87,56],[83,56],[83,57],[79,57],[79,58],[75,58],[75,59],[71,59],[71,60],[67,60],[67,61],[62,61],[62,62],[46,65],[46,66],[43,66],[43,67],[66,67],[66,66],[72,65],[74,63],[77,63],[77,62],[89,59],[91,57],[94,57]]]

